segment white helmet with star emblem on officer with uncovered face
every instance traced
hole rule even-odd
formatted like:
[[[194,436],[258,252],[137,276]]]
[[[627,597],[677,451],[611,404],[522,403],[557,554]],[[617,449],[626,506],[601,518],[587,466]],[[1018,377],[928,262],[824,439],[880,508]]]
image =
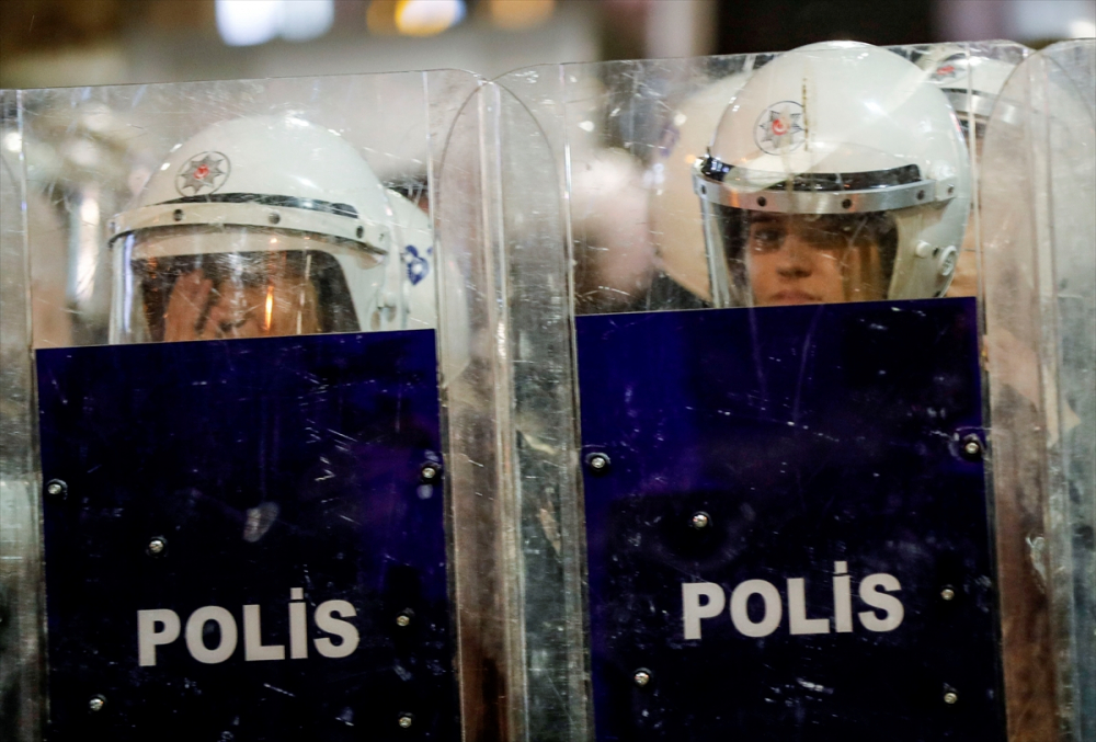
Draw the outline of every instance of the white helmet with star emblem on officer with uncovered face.
[[[875,276],[870,290],[849,289],[842,256],[832,264],[845,271],[846,293],[824,300],[941,296],[971,184],[962,133],[922,70],[884,49],[827,42],[753,73],[697,163],[695,189],[713,301],[742,306],[764,302],[750,224],[792,217],[817,222],[835,246],[846,235],[848,264]],[[853,251],[854,240],[872,247]]]

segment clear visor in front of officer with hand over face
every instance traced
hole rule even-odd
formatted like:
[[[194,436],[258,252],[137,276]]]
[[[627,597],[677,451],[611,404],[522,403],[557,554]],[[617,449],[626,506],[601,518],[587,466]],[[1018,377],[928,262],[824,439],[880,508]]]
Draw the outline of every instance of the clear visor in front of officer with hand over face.
[[[379,258],[306,232],[168,227],[117,239],[111,341],[263,338],[359,328],[336,255]]]

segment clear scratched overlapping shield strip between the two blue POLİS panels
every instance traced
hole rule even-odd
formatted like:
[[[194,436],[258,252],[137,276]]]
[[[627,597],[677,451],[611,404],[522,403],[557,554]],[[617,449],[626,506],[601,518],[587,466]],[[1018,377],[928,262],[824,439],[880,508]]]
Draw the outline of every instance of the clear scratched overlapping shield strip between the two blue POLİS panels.
[[[536,71],[518,78],[553,90]],[[447,476],[458,518],[481,526],[455,532],[464,647],[477,653],[463,659],[463,682],[495,698],[463,707],[479,730],[469,739],[589,731],[563,160],[543,124],[506,84],[484,84],[453,126],[439,176],[445,254],[481,287],[466,297],[469,372],[448,388],[460,453]]]

